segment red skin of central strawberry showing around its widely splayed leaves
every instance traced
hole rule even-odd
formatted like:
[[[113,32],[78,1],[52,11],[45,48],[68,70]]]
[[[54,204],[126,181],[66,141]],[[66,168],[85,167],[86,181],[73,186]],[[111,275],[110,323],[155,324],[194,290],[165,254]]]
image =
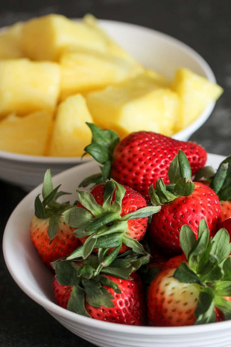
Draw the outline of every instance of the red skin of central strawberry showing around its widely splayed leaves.
[[[104,202],[104,186],[105,184],[100,184],[92,189],[91,194],[94,196],[96,202],[102,206]],[[140,195],[139,193],[135,192],[132,188],[125,187],[126,192],[124,195],[124,198],[122,200],[122,212],[121,217],[134,212],[136,210],[139,210],[143,207],[146,207],[147,204],[145,202],[145,199]],[[112,198],[112,202],[115,200],[115,193]],[[83,207],[81,203],[78,203],[78,207]],[[84,208],[84,207],[83,207]],[[125,233],[126,236],[130,236],[131,238],[139,241],[141,240],[146,232],[148,224],[148,217],[145,218],[139,218],[139,219],[129,219],[127,221],[128,229]],[[84,243],[87,237],[80,238],[81,242]],[[127,247],[125,245],[122,245],[121,253],[126,251]]]

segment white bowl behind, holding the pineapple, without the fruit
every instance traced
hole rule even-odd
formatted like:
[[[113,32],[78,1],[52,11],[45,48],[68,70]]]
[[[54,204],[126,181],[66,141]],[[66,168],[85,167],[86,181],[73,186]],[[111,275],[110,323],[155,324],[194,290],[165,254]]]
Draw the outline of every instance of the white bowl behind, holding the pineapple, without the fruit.
[[[186,67],[207,77],[211,82],[216,82],[206,61],[192,48],[171,36],[112,20],[99,20],[99,24],[145,67],[152,68],[169,79],[174,76],[177,68]],[[211,103],[192,124],[172,137],[187,140],[210,116],[214,105],[214,102]],[[0,179],[30,191],[42,182],[47,168],[51,168],[53,174],[56,174],[79,163],[81,159],[78,157],[38,157],[0,151]]]

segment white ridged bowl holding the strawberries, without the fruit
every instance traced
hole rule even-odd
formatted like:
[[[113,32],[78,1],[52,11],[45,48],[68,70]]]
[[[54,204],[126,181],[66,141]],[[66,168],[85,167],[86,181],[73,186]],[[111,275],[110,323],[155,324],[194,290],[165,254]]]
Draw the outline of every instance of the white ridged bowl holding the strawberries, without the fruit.
[[[209,154],[207,164],[217,168],[223,159],[223,156]],[[62,183],[62,190],[71,192],[71,201],[74,201],[77,197],[75,188],[89,172],[98,172],[97,163],[92,161],[68,169],[53,177],[53,183],[55,186]],[[3,236],[3,253],[19,287],[64,327],[102,347],[230,346],[231,320],[190,327],[134,327],[86,318],[56,305],[52,291],[53,274],[39,259],[29,236],[34,199],[41,190],[41,185],[35,188],[11,214]]]

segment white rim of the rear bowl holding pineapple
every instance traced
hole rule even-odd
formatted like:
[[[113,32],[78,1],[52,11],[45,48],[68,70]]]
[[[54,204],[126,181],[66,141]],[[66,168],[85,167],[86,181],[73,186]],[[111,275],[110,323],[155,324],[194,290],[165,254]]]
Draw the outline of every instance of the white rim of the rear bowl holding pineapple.
[[[71,20],[79,21],[81,18],[70,18]],[[195,61],[201,66],[201,68],[204,70],[204,73],[206,75],[206,78],[212,82],[216,83],[216,78],[214,76],[214,73],[211,69],[211,67],[208,65],[206,60],[199,54],[197,53],[193,48],[191,48],[189,45],[186,43],[176,39],[175,37],[162,33],[158,30],[145,27],[142,25],[138,24],[133,24],[133,23],[127,23],[127,22],[122,22],[118,20],[109,20],[109,19],[98,19],[99,24],[109,24],[109,25],[116,25],[116,26],[127,26],[128,28],[134,28],[134,29],[139,29],[141,31],[149,32],[153,35],[157,35],[160,38],[162,38],[166,42],[172,42],[180,48],[187,52],[190,56],[193,56]],[[4,31],[7,26],[1,27],[0,31]],[[187,133],[193,132],[193,130],[198,129],[204,122],[208,119],[208,117],[211,115],[213,109],[215,106],[215,102],[211,102],[206,109],[197,117],[196,120],[194,120],[191,124],[189,124],[186,128],[180,130],[179,132],[173,134],[171,137],[176,138],[178,136],[186,136]],[[17,153],[12,153],[12,152],[7,152],[7,151],[1,151],[0,150],[0,159],[5,159],[5,160],[11,160],[11,161],[22,161],[22,162],[36,162],[40,164],[72,164],[79,162],[81,160],[80,156],[70,156],[70,157],[59,157],[59,156],[41,156],[41,155],[26,155],[26,154],[17,154]],[[87,159],[85,159],[87,160]]]

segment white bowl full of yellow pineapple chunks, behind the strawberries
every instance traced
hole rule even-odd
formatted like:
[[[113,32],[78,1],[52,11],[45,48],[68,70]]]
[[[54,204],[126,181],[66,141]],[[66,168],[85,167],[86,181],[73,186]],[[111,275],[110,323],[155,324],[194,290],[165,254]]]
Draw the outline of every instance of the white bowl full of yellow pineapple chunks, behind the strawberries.
[[[199,54],[152,29],[55,14],[3,28],[0,179],[30,190],[89,160],[86,122],[186,140],[221,93]]]

